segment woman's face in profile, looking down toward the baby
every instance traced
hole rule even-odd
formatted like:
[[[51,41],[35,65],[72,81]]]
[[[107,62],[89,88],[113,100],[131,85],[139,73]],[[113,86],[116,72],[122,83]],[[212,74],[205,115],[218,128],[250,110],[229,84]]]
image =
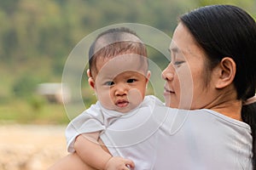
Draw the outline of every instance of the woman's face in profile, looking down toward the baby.
[[[174,31],[170,45],[171,63],[162,73],[166,106],[180,109],[206,108],[211,102],[211,82],[207,78],[206,54],[182,23]],[[208,75],[210,76],[210,75]]]

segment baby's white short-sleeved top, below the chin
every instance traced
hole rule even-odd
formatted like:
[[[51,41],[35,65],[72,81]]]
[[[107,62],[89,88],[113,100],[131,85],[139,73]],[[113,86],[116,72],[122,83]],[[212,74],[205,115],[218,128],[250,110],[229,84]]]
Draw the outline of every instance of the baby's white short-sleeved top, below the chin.
[[[120,113],[118,111],[109,111],[103,108],[100,102],[97,101],[96,105],[91,105],[89,109],[75,117],[67,125],[67,150],[69,152],[75,151],[73,144],[79,134],[93,132],[104,133],[105,130],[110,125],[114,124],[113,122],[115,122],[117,119],[129,119],[129,122],[122,123],[122,127],[126,126],[125,123],[130,126],[131,124],[137,125],[144,122],[145,119],[150,116],[150,113],[153,112],[154,105],[163,105],[163,103],[160,101],[160,99],[155,98],[153,95],[148,95],[144,98],[142,104],[137,106],[137,108],[126,113]]]

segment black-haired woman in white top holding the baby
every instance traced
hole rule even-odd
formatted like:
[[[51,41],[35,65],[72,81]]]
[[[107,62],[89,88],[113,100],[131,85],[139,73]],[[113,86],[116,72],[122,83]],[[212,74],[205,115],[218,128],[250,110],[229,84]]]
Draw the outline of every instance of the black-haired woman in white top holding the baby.
[[[256,169],[255,48],[255,21],[241,8],[213,5],[181,16],[162,74],[166,106],[178,109],[157,108],[165,119],[148,137],[156,144],[146,139],[119,154],[135,166],[151,160],[145,169]],[[73,154],[51,169],[90,167]]]

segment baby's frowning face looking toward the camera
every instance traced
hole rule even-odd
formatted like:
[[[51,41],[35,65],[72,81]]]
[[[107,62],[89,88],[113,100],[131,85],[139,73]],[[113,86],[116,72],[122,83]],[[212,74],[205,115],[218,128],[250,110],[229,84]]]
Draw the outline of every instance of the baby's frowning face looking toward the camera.
[[[136,54],[124,54],[96,62],[97,99],[108,110],[127,112],[144,99],[150,73]]]

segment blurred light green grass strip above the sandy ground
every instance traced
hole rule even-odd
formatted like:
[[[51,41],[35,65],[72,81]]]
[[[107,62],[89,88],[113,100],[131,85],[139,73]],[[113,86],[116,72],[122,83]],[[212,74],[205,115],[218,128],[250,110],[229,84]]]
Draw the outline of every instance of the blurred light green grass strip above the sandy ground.
[[[69,119],[63,105],[49,104],[32,105],[26,100],[0,104],[0,121],[29,124],[67,124]]]

